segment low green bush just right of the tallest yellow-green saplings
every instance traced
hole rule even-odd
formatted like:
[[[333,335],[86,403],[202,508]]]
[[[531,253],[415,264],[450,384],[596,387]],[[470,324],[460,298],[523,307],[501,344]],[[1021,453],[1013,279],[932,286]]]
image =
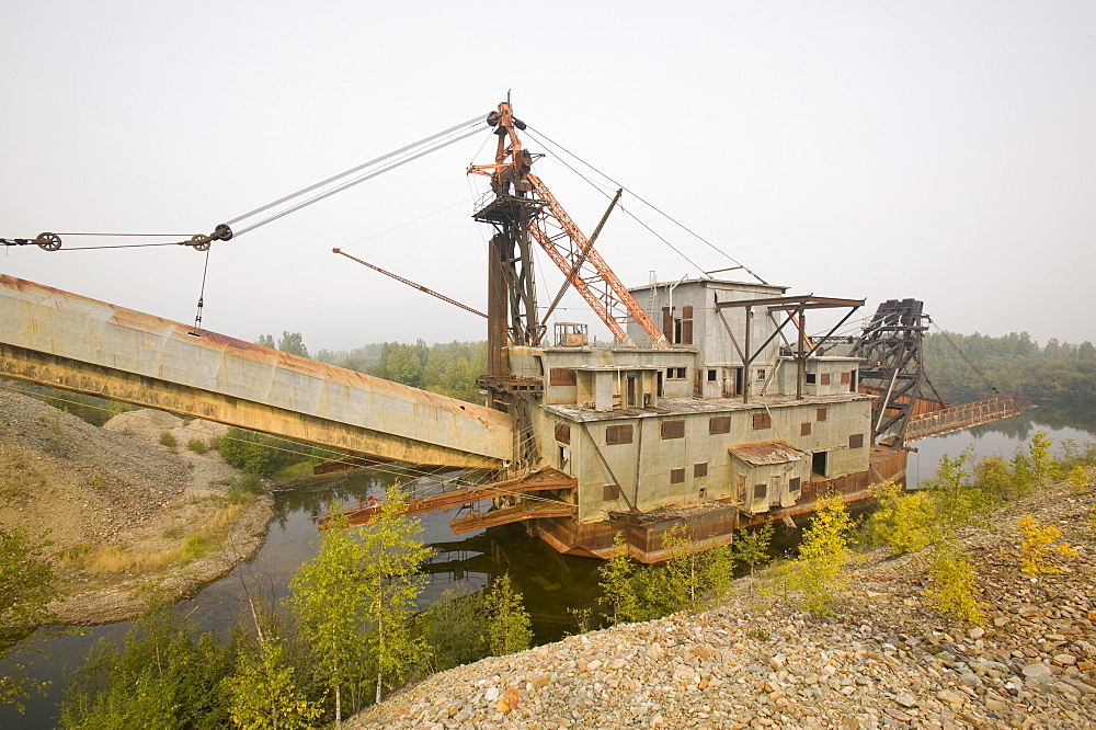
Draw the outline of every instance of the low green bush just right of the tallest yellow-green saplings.
[[[487,606],[482,592],[442,593],[423,616],[434,671],[468,664],[491,653],[488,646]]]

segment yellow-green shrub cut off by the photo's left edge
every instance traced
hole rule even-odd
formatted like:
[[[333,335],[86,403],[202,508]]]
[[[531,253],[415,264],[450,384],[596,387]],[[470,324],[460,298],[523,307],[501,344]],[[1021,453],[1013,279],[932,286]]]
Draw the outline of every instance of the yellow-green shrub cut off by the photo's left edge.
[[[44,555],[49,545],[28,537],[23,528],[0,529],[0,660],[7,664],[0,674],[0,704],[15,705],[21,712],[20,700],[45,687],[23,672],[20,657],[31,646],[16,645],[54,618],[48,604],[57,591]]]

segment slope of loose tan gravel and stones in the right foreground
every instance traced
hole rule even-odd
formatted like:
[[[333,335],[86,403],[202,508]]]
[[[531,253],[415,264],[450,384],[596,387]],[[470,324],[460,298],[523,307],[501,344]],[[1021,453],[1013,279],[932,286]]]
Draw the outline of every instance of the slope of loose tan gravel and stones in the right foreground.
[[[798,613],[762,574],[707,613],[433,675],[346,727],[1096,727],[1093,501],[1058,484],[1000,512],[996,532],[961,536],[987,604],[980,627],[925,606],[924,556],[876,550],[835,618]],[[1078,549],[1057,561],[1066,572],[1020,572],[1015,525],[1029,513]]]

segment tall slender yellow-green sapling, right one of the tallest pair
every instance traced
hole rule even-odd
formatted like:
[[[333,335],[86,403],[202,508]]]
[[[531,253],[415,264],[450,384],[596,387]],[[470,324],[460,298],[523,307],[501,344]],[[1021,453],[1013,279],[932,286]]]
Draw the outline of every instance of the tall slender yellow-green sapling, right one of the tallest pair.
[[[369,647],[379,703],[383,687],[391,689],[402,683],[426,650],[426,637],[415,630],[411,618],[422,593],[419,570],[431,550],[422,544],[418,517],[407,516],[407,495],[399,487],[389,487],[380,514],[362,533],[365,563],[358,569],[366,616],[375,627]]]

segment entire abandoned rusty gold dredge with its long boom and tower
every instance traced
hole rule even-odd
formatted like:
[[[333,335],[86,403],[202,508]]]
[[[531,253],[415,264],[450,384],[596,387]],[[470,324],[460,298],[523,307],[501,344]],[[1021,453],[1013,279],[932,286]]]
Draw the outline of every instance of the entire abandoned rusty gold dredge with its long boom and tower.
[[[468,124],[448,132],[464,138]],[[589,238],[580,230],[533,173],[510,102],[487,124],[494,162],[468,170],[491,183],[473,214],[492,229],[486,407],[217,334],[201,315],[189,327],[2,274],[0,376],[359,455],[326,468],[414,465],[408,474],[435,478],[415,484],[410,510],[461,507],[456,532],[521,522],[560,551],[600,557],[623,533],[648,562],[665,558],[663,536],[677,526],[718,544],[766,520],[792,524],[823,495],[868,500],[874,484],[904,477],[905,442],[1020,411],[1002,398],[952,409],[921,396],[927,317],[913,299],[880,305],[835,356],[826,349],[863,299],[788,294],[760,277],[625,287],[594,248],[605,217]],[[231,238],[225,224],[184,243]],[[547,307],[537,251],[564,280]],[[549,328],[567,287],[610,345],[594,346],[585,323]],[[812,338],[820,310],[836,323]],[[437,477],[447,470],[478,476]],[[352,521],[376,511],[361,505]]]

